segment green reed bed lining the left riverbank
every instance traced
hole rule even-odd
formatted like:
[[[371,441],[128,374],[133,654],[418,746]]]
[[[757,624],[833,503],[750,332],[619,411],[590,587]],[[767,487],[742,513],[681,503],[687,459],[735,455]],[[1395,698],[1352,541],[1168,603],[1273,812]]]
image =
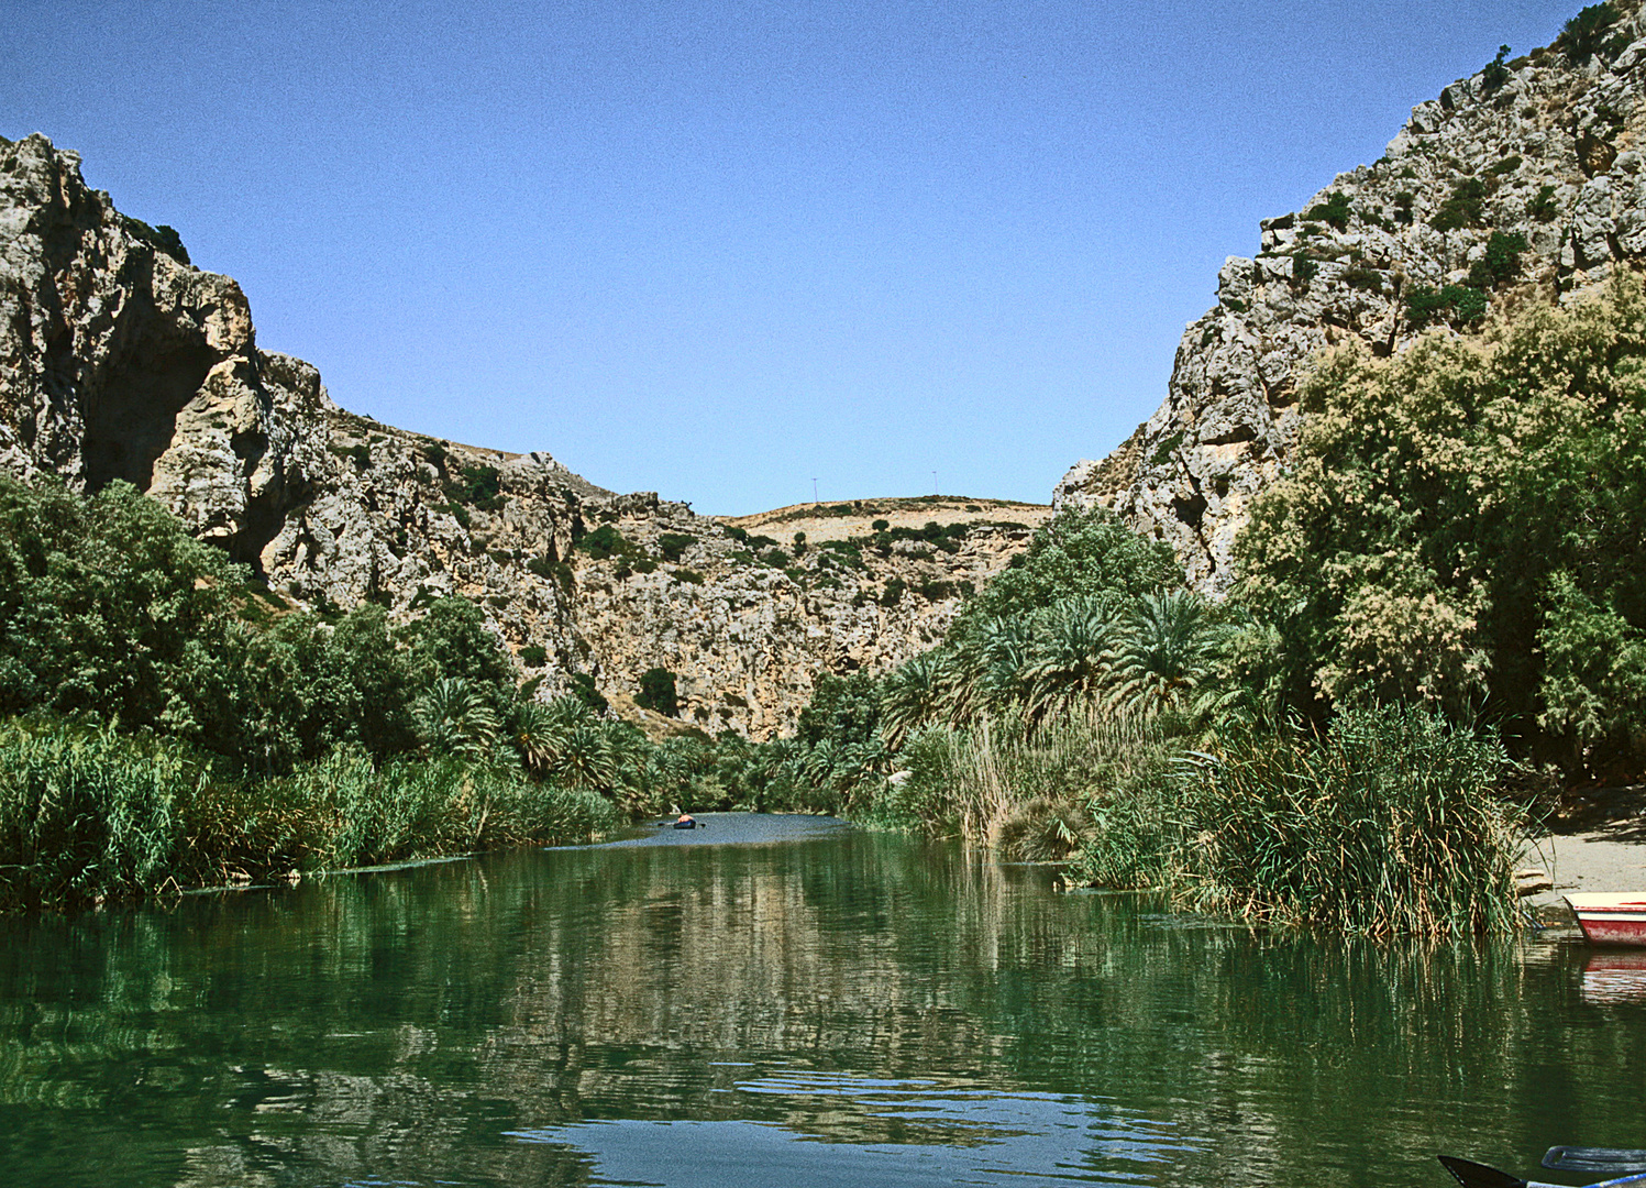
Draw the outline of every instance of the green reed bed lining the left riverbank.
[[[334,751],[258,781],[224,774],[178,740],[0,723],[0,910],[583,840],[616,821],[596,793],[454,758],[377,768]]]

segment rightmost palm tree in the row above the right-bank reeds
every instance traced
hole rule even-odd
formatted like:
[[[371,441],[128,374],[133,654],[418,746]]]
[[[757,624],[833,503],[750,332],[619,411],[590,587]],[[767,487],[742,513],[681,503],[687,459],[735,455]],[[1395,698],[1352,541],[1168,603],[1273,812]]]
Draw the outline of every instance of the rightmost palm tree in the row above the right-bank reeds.
[[[1109,657],[1109,704],[1136,713],[1185,709],[1213,679],[1225,636],[1200,595],[1144,595]]]

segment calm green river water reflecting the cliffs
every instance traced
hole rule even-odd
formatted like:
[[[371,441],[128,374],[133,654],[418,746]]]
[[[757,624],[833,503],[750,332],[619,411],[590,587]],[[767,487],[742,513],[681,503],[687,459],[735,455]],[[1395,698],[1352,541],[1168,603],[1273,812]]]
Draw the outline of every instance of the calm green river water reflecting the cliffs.
[[[709,821],[7,924],[0,1183],[1444,1188],[1439,1150],[1646,1147],[1626,959]]]

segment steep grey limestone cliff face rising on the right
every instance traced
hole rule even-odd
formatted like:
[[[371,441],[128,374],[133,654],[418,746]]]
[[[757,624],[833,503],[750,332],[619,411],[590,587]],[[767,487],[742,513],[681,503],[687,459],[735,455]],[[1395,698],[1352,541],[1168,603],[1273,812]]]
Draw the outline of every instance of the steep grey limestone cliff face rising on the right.
[[[1481,288],[1493,232],[1526,250],[1491,303],[1569,297],[1646,259],[1646,21],[1638,3],[1580,53],[1557,41],[1453,82],[1302,213],[1262,222],[1230,257],[1218,303],[1183,333],[1165,400],[1103,461],[1080,461],[1055,506],[1103,504],[1169,540],[1210,593],[1231,580],[1253,496],[1297,440],[1297,384],[1323,348],[1399,351],[1422,333],[1414,287]],[[1577,48],[1582,49],[1582,48]],[[1460,325],[1458,310],[1442,311]]]

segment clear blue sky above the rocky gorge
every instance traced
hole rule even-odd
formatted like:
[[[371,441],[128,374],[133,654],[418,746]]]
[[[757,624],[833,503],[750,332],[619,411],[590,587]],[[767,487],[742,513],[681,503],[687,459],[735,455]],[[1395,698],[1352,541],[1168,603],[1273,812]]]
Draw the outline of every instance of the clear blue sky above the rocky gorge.
[[[393,425],[703,512],[1045,501],[1216,270],[1582,0],[8,0],[0,133]]]

